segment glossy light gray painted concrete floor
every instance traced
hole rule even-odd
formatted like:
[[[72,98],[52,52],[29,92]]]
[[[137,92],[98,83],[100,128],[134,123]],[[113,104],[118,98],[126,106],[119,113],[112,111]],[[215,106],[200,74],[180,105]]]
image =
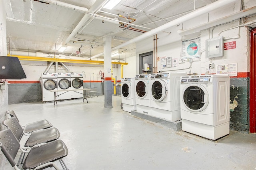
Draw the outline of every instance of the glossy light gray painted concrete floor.
[[[70,170],[255,170],[256,134],[231,131],[210,141],[132,116],[112,96],[42,104],[12,104],[21,124],[48,119],[60,131],[69,153]],[[6,163],[6,170],[13,169]],[[48,168],[51,169],[51,168]]]

